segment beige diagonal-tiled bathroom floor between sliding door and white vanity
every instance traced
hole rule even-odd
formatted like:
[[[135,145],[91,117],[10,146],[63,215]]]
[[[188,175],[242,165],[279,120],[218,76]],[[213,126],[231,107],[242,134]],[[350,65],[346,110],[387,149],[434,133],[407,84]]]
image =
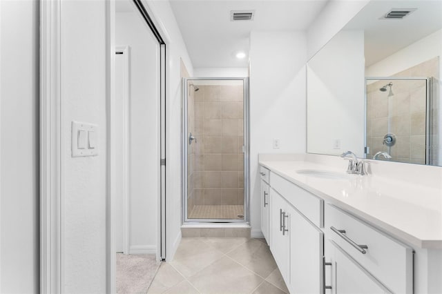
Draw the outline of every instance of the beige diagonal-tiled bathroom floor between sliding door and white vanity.
[[[183,238],[148,293],[289,293],[263,239]]]

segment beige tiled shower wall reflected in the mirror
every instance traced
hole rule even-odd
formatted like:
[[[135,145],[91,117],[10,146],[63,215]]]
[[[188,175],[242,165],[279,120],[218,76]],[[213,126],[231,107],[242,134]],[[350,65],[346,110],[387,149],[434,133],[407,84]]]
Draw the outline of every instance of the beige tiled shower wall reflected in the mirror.
[[[398,72],[393,77],[434,77],[432,105],[439,107],[439,57]],[[393,161],[425,164],[426,151],[426,82],[425,80],[391,80],[394,95],[388,97],[390,88],[379,88],[390,80],[367,85],[367,146],[371,158],[378,151],[390,153]],[[439,111],[432,109],[432,120],[437,121]],[[439,142],[437,124],[430,128],[432,139]],[[383,145],[387,133],[396,135],[396,144]],[[432,148],[431,146],[429,148]],[[433,160],[436,160],[432,157]]]

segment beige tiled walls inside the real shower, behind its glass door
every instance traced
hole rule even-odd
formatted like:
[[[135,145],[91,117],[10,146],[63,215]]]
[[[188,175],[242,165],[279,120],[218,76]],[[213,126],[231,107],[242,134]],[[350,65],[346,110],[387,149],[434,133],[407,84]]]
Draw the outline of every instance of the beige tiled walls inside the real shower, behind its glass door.
[[[242,86],[199,86],[195,92],[189,204],[244,204]],[[191,101],[189,100],[189,104]],[[191,117],[189,116],[189,121]],[[192,199],[191,199],[192,198]],[[190,207],[188,209],[191,209]]]

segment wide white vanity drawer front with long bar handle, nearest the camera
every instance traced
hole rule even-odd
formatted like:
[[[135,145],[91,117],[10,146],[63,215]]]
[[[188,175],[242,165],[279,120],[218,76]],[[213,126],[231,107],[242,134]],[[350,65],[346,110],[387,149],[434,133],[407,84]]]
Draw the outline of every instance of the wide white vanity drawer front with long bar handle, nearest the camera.
[[[336,242],[390,291],[412,293],[412,248],[332,205],[325,207],[325,228],[327,239]],[[365,253],[357,248],[361,245],[367,246],[362,248]]]

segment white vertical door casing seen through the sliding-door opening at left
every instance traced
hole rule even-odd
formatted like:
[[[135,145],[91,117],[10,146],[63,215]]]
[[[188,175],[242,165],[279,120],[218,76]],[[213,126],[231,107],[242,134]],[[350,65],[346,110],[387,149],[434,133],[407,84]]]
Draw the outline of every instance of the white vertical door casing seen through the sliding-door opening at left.
[[[129,146],[128,146],[128,142],[129,142],[129,101],[131,99],[131,87],[129,86],[131,84],[131,47],[130,46],[119,46],[115,48],[115,51],[121,51],[123,52],[123,57],[124,57],[124,68],[125,68],[125,73],[126,73],[126,77],[124,77],[125,79],[125,83],[124,83],[124,92],[125,92],[125,97],[124,97],[124,107],[122,109],[123,113],[124,113],[124,117],[123,117],[123,121],[124,121],[124,126],[123,126],[123,130],[124,130],[124,139],[123,139],[123,143],[124,143],[124,147],[123,147],[123,190],[124,190],[124,195],[123,195],[123,253],[124,254],[129,254],[129,224],[130,224],[130,220],[129,220],[129,195],[130,195],[130,186],[129,186]],[[117,99],[115,97],[115,99]],[[115,109],[115,111],[117,111]],[[115,115],[115,112],[113,113]],[[115,124],[114,124],[115,126]],[[114,142],[115,143],[115,142]],[[111,158],[111,161],[115,161],[115,157]],[[114,166],[114,165],[113,165]],[[115,182],[114,182],[115,183]]]

